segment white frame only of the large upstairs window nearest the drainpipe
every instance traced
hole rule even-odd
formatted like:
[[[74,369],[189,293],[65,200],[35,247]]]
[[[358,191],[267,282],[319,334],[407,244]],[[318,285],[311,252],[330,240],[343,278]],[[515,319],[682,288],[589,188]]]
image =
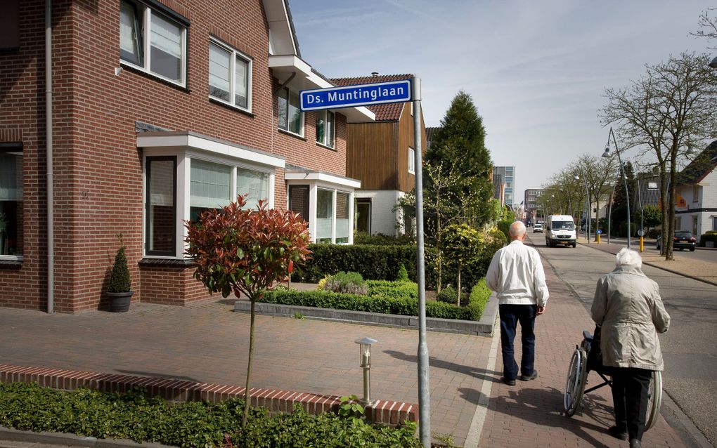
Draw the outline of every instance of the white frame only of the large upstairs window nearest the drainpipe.
[[[187,62],[187,44],[186,44],[186,34],[187,34],[187,27],[186,25],[177,22],[176,20],[172,19],[170,16],[167,16],[166,14],[161,14],[161,12],[156,11],[152,9],[150,6],[139,3],[137,1],[133,0],[122,0],[121,3],[127,3],[131,4],[135,7],[135,10],[137,11],[138,15],[138,22],[140,23],[141,30],[138,30],[139,33],[141,33],[142,37],[142,55],[143,55],[143,65],[136,65],[133,62],[127,61],[125,59],[122,59],[122,56],[120,55],[120,65],[126,65],[128,67],[133,67],[136,70],[140,70],[141,72],[145,72],[148,75],[151,75],[153,77],[157,77],[161,80],[165,80],[166,82],[171,82],[174,85],[179,85],[180,87],[186,87],[186,62]],[[150,67],[152,66],[152,60],[151,60],[151,36],[152,36],[152,16],[157,15],[161,16],[162,19],[172,22],[177,27],[181,29],[181,35],[179,40],[179,46],[180,46],[180,52],[181,56],[179,57],[179,82],[175,80],[171,80],[168,77],[165,77],[163,75],[160,75],[156,72],[151,71]]]

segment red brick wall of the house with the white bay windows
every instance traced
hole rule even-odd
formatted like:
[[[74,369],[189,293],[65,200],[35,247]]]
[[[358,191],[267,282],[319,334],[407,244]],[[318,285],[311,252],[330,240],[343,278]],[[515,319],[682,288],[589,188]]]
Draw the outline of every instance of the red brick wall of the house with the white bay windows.
[[[103,307],[108,270],[123,232],[133,300],[201,300],[191,270],[143,268],[142,151],[135,122],[191,130],[285,156],[288,163],[345,174],[346,120],[338,115],[337,151],[315,145],[315,116],[306,139],[277,131],[277,102],[267,68],[268,28],[262,2],[164,1],[191,19],[186,89],[120,67],[119,1],[53,2],[55,310]],[[21,49],[0,54],[0,135],[22,132],[24,146],[24,262],[0,267],[0,305],[44,309],[47,217],[44,143],[44,1],[20,2]],[[252,114],[208,100],[209,36],[214,31],[253,58]],[[221,32],[219,31],[221,30]],[[286,206],[276,172],[275,206]],[[181,278],[176,277],[180,275]],[[167,280],[184,279],[163,296]],[[156,286],[152,286],[156,282]],[[22,291],[17,290],[22,285]],[[199,286],[197,286],[199,285]],[[181,289],[184,288],[184,291]]]

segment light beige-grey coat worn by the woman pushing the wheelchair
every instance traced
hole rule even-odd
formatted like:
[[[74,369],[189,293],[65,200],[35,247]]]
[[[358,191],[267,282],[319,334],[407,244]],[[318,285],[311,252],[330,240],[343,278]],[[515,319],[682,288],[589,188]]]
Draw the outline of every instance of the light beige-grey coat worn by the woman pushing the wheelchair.
[[[618,266],[600,277],[592,302],[592,319],[602,327],[604,366],[663,370],[657,333],[670,327],[670,315],[657,283],[637,267]]]

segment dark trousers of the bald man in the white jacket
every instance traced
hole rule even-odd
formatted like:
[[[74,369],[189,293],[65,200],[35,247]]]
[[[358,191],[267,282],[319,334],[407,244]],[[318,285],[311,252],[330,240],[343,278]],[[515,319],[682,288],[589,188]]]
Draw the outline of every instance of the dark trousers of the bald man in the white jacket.
[[[503,378],[514,380],[518,376],[513,340],[516,338],[516,326],[521,323],[521,375],[533,374],[536,355],[536,335],[533,328],[536,321],[537,305],[500,305],[500,345],[503,348]]]

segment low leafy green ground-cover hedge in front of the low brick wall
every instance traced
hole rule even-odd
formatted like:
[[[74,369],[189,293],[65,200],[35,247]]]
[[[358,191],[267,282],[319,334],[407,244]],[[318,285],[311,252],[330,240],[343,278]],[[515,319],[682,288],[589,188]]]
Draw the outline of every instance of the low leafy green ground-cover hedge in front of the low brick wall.
[[[416,425],[410,422],[394,429],[332,413],[311,416],[295,406],[293,414],[276,416],[252,408],[247,426],[241,428],[242,399],[171,404],[147,399],[143,392],[143,388],[126,394],[91,389],[67,392],[37,383],[0,383],[0,424],[26,431],[192,448],[222,447],[224,434],[230,434],[239,447],[309,447],[317,441],[331,447],[421,446],[414,436]]]

